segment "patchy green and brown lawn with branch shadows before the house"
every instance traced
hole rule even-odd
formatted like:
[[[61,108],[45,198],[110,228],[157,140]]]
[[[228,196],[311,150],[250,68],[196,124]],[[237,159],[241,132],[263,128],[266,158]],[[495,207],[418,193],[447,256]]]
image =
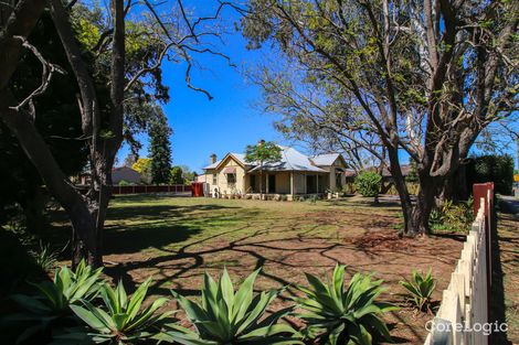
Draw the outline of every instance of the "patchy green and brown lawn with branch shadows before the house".
[[[388,315],[396,343],[421,344],[432,315],[403,300],[399,281],[413,269],[433,269],[435,300],[451,279],[463,238],[401,239],[399,206],[383,202],[261,202],[157,195],[117,196],[106,222],[106,273],[128,289],[152,276],[156,295],[174,289],[195,295],[204,271],[226,267],[239,282],[262,267],[256,289],[305,283],[304,272],[322,274],[336,262],[348,272],[374,272],[385,280],[384,299],[401,306]],[[66,227],[54,223],[54,227]],[[285,301],[296,293],[289,288]]]

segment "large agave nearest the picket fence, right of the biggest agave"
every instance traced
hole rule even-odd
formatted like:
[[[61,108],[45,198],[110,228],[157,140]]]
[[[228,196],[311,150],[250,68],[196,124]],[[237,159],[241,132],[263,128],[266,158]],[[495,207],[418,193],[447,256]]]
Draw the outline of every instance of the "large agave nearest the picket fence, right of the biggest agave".
[[[373,337],[391,341],[380,314],[395,310],[390,303],[375,299],[384,291],[382,280],[372,281],[372,274],[356,273],[345,289],[346,267],[337,265],[326,282],[306,274],[309,288],[300,287],[305,298],[298,298],[305,310],[298,316],[306,324],[306,335],[319,344],[372,344]]]

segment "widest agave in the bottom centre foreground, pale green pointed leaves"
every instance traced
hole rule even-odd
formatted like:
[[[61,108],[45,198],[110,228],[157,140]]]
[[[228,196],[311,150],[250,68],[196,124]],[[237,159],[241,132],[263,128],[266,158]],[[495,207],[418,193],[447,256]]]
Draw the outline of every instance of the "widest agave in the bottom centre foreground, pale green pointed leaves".
[[[267,306],[280,291],[263,291],[254,295],[253,287],[258,273],[256,270],[248,276],[237,291],[225,269],[218,283],[205,273],[201,304],[172,291],[195,332],[171,325],[167,332],[169,341],[184,345],[303,344],[298,332],[288,324],[278,323],[292,308],[264,317]]]

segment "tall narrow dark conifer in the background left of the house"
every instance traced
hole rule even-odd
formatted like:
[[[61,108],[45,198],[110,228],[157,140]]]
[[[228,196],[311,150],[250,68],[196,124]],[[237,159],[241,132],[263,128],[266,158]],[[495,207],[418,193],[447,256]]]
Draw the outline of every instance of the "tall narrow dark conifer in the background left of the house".
[[[151,158],[151,182],[155,184],[168,183],[171,169],[171,144],[169,128],[162,109],[156,107],[155,111],[160,114],[149,127],[149,155]]]

